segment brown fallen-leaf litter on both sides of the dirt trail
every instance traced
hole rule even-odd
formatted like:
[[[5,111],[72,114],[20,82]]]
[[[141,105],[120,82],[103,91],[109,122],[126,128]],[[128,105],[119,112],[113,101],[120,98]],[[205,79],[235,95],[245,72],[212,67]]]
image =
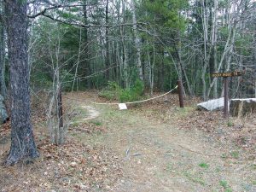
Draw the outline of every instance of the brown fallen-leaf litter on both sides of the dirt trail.
[[[95,93],[78,95],[90,98],[95,96]],[[143,114],[158,123],[171,121],[172,125],[177,125],[180,129],[205,131],[210,137],[236,143],[249,154],[255,154],[255,115],[243,119],[230,118],[227,121],[221,112],[195,110],[195,104],[200,102],[199,98],[185,100],[185,109],[178,108],[177,98],[175,94],[168,95],[130,108],[135,113]],[[75,115],[71,115],[70,118],[74,118]],[[39,125],[45,121],[44,115],[39,119],[36,119],[36,116],[32,118],[34,124]],[[3,125],[3,129],[0,129],[1,138],[9,137],[9,130],[9,123]],[[97,131],[105,132],[107,128],[83,122],[70,125],[68,131],[93,134]],[[48,137],[41,140],[36,138],[40,158],[31,165],[1,167],[0,191],[108,191],[122,176],[121,160],[111,148],[92,147],[71,137],[68,137],[67,143],[61,146],[51,144]],[[255,156],[252,155],[251,158],[255,160]]]

